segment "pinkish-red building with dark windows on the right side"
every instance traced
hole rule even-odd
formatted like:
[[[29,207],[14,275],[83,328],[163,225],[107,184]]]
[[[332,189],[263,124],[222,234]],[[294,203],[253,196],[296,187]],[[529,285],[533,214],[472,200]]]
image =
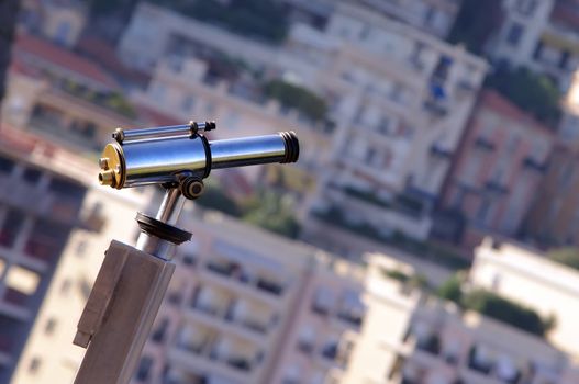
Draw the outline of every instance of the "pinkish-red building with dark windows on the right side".
[[[555,134],[496,91],[481,93],[442,199],[433,235],[472,249],[516,236],[547,170]]]

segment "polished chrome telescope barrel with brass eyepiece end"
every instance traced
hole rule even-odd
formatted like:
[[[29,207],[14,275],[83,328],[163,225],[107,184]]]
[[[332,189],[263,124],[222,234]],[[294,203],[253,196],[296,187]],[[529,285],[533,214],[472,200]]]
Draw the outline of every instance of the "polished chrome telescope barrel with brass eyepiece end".
[[[211,169],[296,162],[299,142],[293,132],[224,140],[179,135],[141,138],[132,134],[104,147],[99,181],[122,189],[178,182],[183,174],[207,178]],[[147,138],[145,138],[147,136]]]

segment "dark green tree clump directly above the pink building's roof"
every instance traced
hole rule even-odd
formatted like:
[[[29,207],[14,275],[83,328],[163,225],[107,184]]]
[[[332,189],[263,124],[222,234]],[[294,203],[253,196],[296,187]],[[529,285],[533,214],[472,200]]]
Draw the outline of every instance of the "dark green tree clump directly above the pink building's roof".
[[[486,82],[535,118],[557,125],[560,93],[555,82],[545,75],[533,74],[523,67],[510,69],[498,66]]]

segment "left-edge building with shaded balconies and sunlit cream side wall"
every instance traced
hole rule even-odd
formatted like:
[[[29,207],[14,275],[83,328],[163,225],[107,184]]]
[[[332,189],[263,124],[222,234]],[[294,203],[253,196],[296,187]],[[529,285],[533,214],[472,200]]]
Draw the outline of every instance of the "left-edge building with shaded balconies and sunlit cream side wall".
[[[88,294],[87,290],[98,271],[98,268],[92,270],[97,264],[94,260],[100,260],[104,250],[96,252],[90,248],[91,241],[129,236],[125,224],[123,229],[123,219],[111,226],[104,213],[112,208],[107,205],[109,203],[118,212],[125,207],[132,211],[137,200],[133,199],[134,202],[130,203],[131,199],[112,196],[96,188],[94,172],[87,161],[37,136],[7,126],[0,132],[2,383],[8,383],[24,346],[26,352],[21,370],[30,374],[27,383],[51,382],[53,376],[47,375],[44,377],[51,379],[40,381],[35,374],[68,364],[65,357],[74,349],[71,339],[60,350],[54,351],[52,358],[55,360],[51,363],[43,360],[46,352],[41,347],[54,341],[51,340],[53,332],[55,338],[74,335],[86,300],[83,295]],[[131,217],[127,214],[123,216]],[[75,276],[75,280],[69,279],[65,284],[60,262],[67,255],[75,255],[75,259],[67,261],[74,267],[66,272],[67,279]],[[92,264],[83,266],[85,258],[93,259]],[[59,297],[59,305],[55,305],[53,296]],[[59,324],[53,321],[55,314],[65,320]],[[38,341],[38,334],[43,334],[46,341],[35,347],[34,355],[27,355],[29,346]],[[80,355],[77,351],[77,360]]]

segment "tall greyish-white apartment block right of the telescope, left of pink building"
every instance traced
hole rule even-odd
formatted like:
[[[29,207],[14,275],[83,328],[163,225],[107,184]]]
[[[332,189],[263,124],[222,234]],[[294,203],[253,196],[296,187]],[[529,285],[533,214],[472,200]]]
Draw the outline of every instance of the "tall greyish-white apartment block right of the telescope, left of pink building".
[[[397,233],[425,239],[485,63],[354,7],[341,8],[323,33],[296,27],[290,44],[304,57],[325,57],[316,77],[337,123],[308,239],[346,255],[359,250],[336,241],[332,226],[378,239]]]

